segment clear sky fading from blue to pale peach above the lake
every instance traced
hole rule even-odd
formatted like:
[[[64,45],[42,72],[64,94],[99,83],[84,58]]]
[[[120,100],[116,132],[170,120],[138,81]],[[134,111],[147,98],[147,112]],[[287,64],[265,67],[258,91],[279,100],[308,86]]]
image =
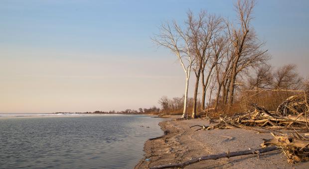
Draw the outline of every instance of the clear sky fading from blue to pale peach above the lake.
[[[235,19],[235,0],[0,0],[0,113],[158,106],[184,93],[176,56],[151,37],[188,9]],[[309,1],[258,0],[252,26],[275,67],[309,77]],[[189,93],[192,93],[194,79]]]

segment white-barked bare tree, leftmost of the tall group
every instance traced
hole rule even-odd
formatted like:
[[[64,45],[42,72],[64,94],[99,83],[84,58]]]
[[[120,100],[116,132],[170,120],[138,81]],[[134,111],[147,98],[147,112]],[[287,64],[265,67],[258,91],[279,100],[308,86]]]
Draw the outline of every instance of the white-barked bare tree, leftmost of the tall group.
[[[188,22],[186,22],[188,23]],[[179,62],[183,71],[185,73],[185,92],[184,92],[184,106],[183,106],[183,114],[182,118],[187,118],[187,97],[188,97],[188,87],[189,87],[189,79],[191,66],[194,61],[194,57],[191,54],[190,46],[190,31],[187,24],[187,27],[182,29],[175,21],[172,24],[166,23],[161,24],[160,33],[155,35],[153,41],[158,45],[169,49],[173,52]]]

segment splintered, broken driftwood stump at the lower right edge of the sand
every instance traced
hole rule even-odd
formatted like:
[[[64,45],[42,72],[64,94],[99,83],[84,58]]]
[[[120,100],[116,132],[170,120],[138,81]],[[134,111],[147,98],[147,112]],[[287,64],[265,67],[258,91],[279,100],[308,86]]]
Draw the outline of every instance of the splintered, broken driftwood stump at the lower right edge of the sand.
[[[273,139],[264,139],[264,143],[261,144],[262,148],[279,147],[290,164],[309,161],[309,138],[297,132],[291,135],[275,135],[274,133],[272,135],[274,136]]]

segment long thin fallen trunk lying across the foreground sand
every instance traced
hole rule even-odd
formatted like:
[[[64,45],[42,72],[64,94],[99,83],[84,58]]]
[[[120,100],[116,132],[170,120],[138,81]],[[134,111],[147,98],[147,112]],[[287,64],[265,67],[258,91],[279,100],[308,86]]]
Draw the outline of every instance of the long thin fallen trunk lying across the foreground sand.
[[[259,154],[261,153],[271,152],[271,151],[278,150],[278,149],[279,148],[274,146],[274,147],[268,147],[265,149],[251,149],[251,150],[244,150],[244,151],[237,151],[237,152],[221,153],[221,154],[216,154],[216,155],[208,155],[208,156],[202,156],[200,158],[194,158],[184,163],[155,166],[155,167],[151,167],[150,169],[166,169],[166,168],[175,168],[175,167],[183,168],[185,166],[191,165],[193,163],[198,163],[204,160],[217,160],[221,158],[230,158],[230,157],[243,156],[243,155],[249,155],[249,154],[258,154],[259,156]]]

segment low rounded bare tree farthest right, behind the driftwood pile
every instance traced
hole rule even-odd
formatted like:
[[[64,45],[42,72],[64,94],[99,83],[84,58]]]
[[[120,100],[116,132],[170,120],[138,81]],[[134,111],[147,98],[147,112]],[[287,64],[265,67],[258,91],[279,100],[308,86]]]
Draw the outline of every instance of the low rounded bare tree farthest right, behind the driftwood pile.
[[[276,89],[299,89],[302,86],[303,78],[296,71],[297,66],[285,65],[274,73],[274,88]]]

